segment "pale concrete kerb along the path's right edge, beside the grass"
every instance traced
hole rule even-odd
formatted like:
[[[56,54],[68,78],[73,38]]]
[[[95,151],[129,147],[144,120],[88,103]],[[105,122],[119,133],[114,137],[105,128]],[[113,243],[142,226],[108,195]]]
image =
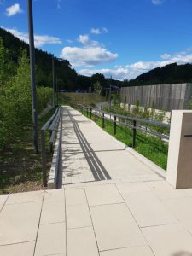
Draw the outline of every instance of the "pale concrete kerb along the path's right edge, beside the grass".
[[[77,110],[77,109],[75,109]],[[77,110],[78,111],[78,110]],[[80,112],[79,112],[80,113]],[[85,117],[85,116],[84,116]],[[85,117],[86,119],[88,119],[87,117]],[[89,119],[90,120],[90,119]],[[96,123],[93,120],[90,120],[94,125],[96,125]],[[96,125],[99,129],[102,130],[102,128],[98,125]],[[149,169],[151,169],[152,171],[156,172],[160,177],[166,179],[166,171],[163,170],[162,168],[160,168],[160,166],[157,166],[154,164],[154,162],[152,162],[151,160],[148,160],[146,157],[144,157],[142,154],[139,154],[136,150],[127,147],[125,145],[125,143],[120,142],[119,140],[117,140],[115,137],[113,137],[112,135],[108,134],[107,131],[102,130],[103,132],[105,132],[107,134],[108,137],[110,137],[113,142],[117,143],[121,148],[125,149],[126,151],[128,151],[130,154],[132,154],[135,158],[137,158],[137,160],[139,160],[140,162],[142,162],[145,166],[148,166]]]

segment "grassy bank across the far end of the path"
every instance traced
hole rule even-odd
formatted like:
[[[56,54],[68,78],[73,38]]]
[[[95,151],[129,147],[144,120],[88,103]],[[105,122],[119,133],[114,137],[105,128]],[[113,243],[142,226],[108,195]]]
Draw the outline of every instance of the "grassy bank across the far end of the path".
[[[95,93],[63,92],[59,94],[60,105],[83,104],[95,106],[96,103],[105,101],[105,97]]]

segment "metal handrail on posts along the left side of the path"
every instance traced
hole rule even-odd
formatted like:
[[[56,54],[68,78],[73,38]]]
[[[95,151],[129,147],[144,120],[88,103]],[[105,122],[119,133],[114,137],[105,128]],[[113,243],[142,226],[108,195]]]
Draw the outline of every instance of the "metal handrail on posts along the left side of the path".
[[[41,148],[42,148],[42,170],[43,170],[43,184],[47,187],[47,157],[46,157],[46,142],[45,132],[49,130],[49,148],[53,151],[53,142],[55,138],[56,125],[61,116],[61,108],[56,108],[55,113],[41,128]]]

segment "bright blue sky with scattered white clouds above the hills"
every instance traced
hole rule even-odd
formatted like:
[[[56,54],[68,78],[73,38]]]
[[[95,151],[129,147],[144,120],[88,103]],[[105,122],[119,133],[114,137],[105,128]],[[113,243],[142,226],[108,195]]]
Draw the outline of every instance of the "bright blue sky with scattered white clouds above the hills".
[[[0,26],[28,41],[26,0],[0,0]],[[192,0],[34,0],[35,42],[78,73],[132,79],[192,62]]]

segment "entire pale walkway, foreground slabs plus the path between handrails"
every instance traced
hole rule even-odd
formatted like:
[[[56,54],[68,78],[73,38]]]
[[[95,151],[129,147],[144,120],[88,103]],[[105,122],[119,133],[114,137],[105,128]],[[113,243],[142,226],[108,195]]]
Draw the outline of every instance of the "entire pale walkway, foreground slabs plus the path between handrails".
[[[0,255],[192,256],[192,189],[63,114],[63,188],[0,195]]]

